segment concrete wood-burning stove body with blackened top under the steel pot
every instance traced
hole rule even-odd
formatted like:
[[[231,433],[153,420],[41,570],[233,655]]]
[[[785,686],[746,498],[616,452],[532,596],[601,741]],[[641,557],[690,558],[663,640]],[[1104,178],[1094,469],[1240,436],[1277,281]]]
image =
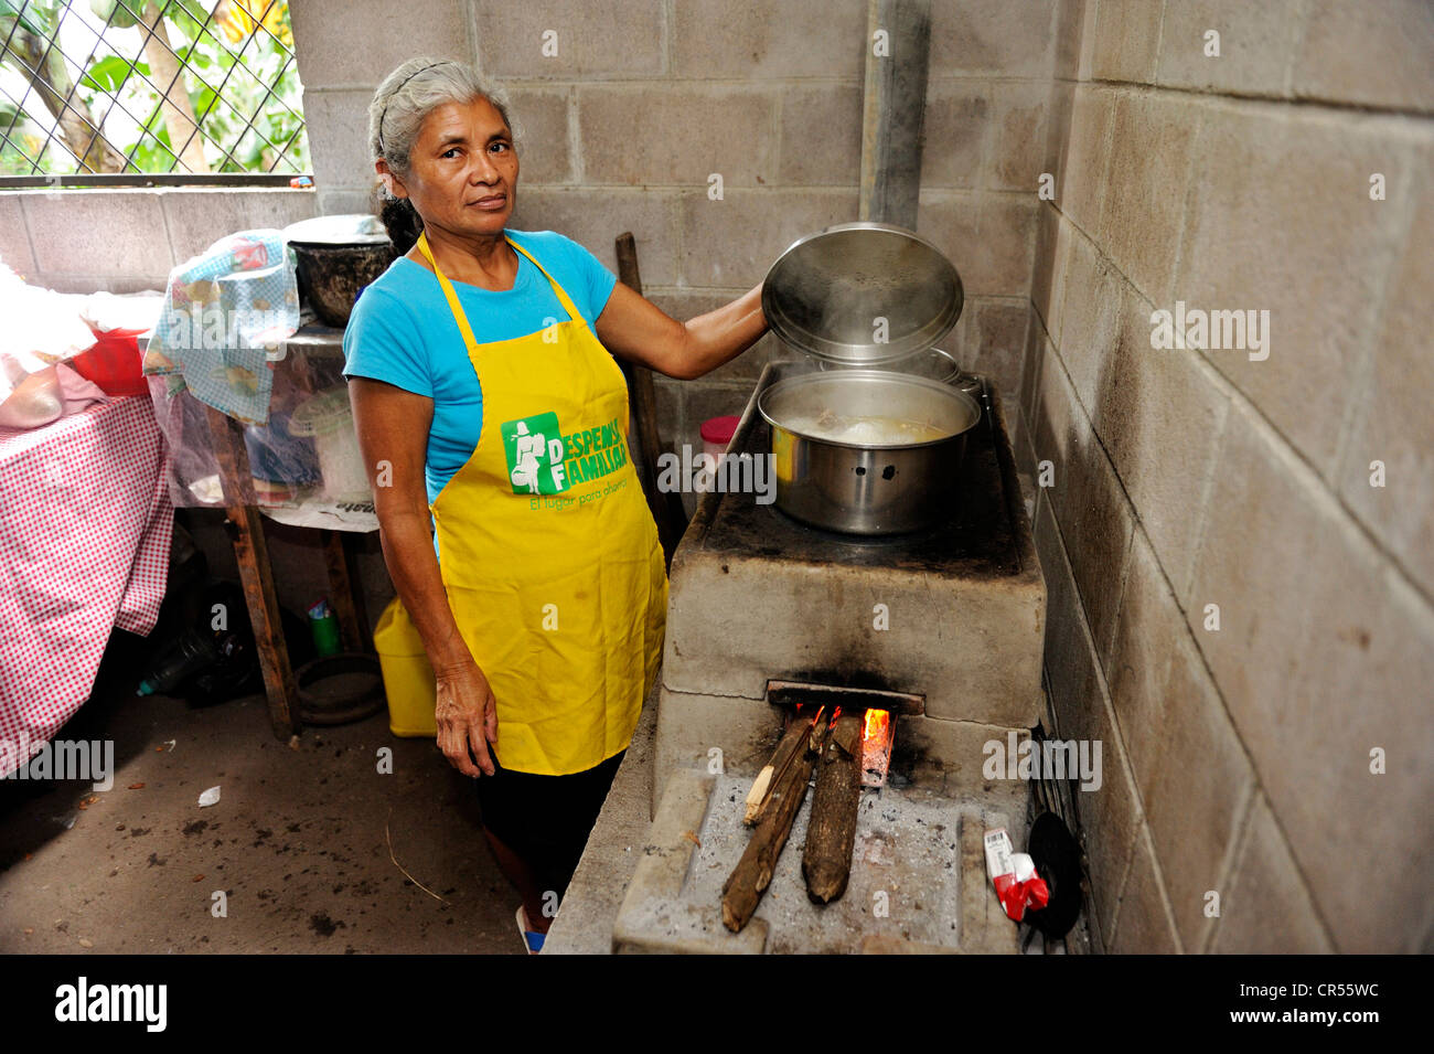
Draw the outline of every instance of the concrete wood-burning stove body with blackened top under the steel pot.
[[[756,400],[782,373],[763,371],[730,453],[770,449]],[[1024,845],[1028,789],[984,780],[982,763],[987,743],[1028,736],[1043,714],[1045,587],[999,397],[984,402],[952,480],[959,500],[916,535],[827,533],[753,493],[703,496],[671,566],[654,825],[615,948],[1014,949],[981,835],[1007,826]],[[876,706],[899,697],[889,779],[862,792],[842,901],[804,896],[807,802],[756,918],[733,935],[720,886],[749,837],[741,799],[782,734],[790,684],[869,690]]]

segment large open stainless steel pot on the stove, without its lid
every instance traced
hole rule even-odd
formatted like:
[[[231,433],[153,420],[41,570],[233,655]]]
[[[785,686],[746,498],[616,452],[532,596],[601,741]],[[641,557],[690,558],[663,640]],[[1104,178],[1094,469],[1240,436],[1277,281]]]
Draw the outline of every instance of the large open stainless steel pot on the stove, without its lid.
[[[889,535],[931,526],[981,406],[967,391],[885,370],[804,373],[767,386],[777,508],[826,531]]]

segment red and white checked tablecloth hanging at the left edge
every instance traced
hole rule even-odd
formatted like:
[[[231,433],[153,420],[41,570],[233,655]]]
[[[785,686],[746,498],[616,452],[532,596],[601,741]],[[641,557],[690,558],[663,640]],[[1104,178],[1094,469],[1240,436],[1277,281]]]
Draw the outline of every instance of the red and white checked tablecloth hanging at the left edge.
[[[168,459],[145,397],[0,429],[0,740],[13,744],[0,767],[89,698],[112,627],[155,628],[174,525]]]

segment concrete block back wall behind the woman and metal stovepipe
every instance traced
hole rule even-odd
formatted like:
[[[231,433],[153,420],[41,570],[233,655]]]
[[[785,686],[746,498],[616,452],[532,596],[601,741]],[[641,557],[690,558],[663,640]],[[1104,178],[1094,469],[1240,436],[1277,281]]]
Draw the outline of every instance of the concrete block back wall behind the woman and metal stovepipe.
[[[856,219],[862,0],[360,0],[291,4],[324,211],[361,208],[373,89],[414,54],[469,59],[521,126],[513,225],[551,228],[617,270],[637,237],[644,293],[693,318],[747,291],[796,238]],[[918,228],[955,261],[967,308],[948,348],[1020,384],[1054,0],[936,0]],[[556,54],[543,54],[555,33]],[[554,37],[548,37],[552,40]],[[723,176],[723,199],[708,176]],[[740,413],[767,337],[695,381],[657,379],[665,445]],[[700,447],[698,447],[700,449]],[[688,495],[688,500],[694,496]]]

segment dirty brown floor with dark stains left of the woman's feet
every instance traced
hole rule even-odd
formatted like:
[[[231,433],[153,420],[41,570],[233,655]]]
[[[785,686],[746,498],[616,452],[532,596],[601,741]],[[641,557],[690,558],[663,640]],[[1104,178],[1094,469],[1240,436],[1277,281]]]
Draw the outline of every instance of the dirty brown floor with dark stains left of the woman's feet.
[[[109,792],[0,780],[0,952],[522,954],[469,780],[430,740],[396,739],[384,711],[290,749],[258,695],[133,697],[143,652],[116,632],[60,733],[113,740]]]

